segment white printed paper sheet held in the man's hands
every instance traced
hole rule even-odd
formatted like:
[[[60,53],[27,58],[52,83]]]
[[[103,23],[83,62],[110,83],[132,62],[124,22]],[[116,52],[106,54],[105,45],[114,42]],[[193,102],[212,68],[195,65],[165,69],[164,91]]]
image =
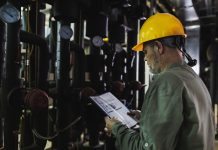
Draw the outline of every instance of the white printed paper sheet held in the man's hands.
[[[137,121],[127,115],[128,108],[120,102],[112,93],[107,92],[98,96],[90,96],[90,98],[110,117],[115,117],[128,128],[137,124]]]

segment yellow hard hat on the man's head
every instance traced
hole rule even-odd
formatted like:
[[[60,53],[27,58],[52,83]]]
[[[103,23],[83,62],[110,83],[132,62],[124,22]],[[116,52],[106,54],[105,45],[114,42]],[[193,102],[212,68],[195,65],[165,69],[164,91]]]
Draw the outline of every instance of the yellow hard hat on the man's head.
[[[172,14],[157,13],[144,22],[139,32],[139,43],[132,50],[142,51],[144,42],[168,36],[186,37],[183,25]]]

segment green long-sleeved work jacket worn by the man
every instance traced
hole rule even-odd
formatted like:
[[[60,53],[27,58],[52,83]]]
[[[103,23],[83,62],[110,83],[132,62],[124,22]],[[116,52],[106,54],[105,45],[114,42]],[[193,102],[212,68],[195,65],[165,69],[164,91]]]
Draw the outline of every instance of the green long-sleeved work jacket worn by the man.
[[[118,150],[214,150],[209,92],[186,64],[156,75],[145,95],[139,130],[112,127]]]

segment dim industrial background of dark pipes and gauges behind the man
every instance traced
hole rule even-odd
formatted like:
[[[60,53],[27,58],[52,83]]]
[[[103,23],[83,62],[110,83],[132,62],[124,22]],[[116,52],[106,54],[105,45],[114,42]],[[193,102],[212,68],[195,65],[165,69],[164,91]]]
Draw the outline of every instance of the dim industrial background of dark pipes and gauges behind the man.
[[[125,85],[120,99],[140,109],[151,75],[131,48],[157,12],[182,20],[217,120],[217,0],[1,0],[0,7],[9,3],[20,18],[10,7],[0,14],[0,149],[113,150],[89,96]]]

